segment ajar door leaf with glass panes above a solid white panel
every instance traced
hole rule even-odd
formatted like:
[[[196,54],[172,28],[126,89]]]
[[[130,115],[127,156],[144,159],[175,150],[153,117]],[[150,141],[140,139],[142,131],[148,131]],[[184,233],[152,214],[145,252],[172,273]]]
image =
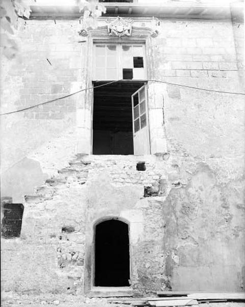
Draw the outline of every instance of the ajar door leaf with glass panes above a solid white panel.
[[[134,155],[150,155],[146,84],[132,95]]]

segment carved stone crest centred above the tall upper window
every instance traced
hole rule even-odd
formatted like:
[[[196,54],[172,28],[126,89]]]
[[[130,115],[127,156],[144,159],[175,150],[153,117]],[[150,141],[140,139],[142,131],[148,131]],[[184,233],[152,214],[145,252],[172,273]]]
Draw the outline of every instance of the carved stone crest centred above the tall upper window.
[[[126,20],[119,16],[117,16],[117,18],[114,20],[107,19],[109,36],[131,36],[133,22],[134,21],[132,19]]]

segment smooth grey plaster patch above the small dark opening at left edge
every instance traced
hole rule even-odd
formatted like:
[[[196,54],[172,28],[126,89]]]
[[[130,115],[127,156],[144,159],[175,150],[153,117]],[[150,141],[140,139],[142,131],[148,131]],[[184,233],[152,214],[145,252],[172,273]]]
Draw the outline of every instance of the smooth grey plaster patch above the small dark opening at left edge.
[[[1,195],[11,196],[14,203],[22,202],[24,195],[32,194],[46,179],[39,162],[24,158],[2,174]]]

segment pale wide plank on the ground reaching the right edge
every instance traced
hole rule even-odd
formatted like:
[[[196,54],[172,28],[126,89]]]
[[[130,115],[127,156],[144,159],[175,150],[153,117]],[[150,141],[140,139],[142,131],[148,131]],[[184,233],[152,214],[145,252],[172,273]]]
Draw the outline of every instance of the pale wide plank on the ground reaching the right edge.
[[[245,300],[244,292],[230,292],[230,293],[192,293],[187,297],[197,300],[211,300],[211,299],[230,299],[230,300]]]

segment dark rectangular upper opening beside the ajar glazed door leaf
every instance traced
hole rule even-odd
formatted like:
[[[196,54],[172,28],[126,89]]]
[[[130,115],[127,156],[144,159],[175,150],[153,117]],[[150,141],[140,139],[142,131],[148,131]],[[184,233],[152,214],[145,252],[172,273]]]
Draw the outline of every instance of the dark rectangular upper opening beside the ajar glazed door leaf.
[[[94,89],[93,155],[134,154],[131,95],[142,85],[144,82],[119,81]]]

